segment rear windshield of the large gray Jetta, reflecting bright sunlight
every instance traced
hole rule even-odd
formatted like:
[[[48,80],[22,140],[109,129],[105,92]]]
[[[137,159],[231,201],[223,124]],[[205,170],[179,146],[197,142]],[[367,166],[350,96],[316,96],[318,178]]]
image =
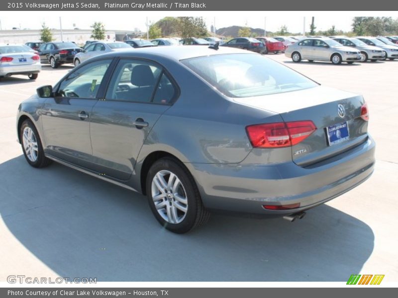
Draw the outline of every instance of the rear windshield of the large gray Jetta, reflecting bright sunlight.
[[[257,54],[222,54],[181,60],[221,93],[250,97],[317,86],[309,78]]]

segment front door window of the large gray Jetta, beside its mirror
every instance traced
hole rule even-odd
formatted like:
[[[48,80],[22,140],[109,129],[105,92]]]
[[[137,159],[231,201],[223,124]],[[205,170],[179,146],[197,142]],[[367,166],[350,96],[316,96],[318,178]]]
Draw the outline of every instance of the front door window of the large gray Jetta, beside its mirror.
[[[89,63],[69,74],[60,84],[57,96],[96,98],[111,59]]]

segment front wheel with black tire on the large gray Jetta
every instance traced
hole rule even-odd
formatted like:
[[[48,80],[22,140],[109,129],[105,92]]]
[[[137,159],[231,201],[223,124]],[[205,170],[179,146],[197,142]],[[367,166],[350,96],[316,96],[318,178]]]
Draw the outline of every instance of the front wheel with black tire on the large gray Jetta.
[[[41,168],[51,163],[51,159],[44,155],[39,134],[32,121],[28,119],[23,121],[19,136],[23,155],[31,166]]]

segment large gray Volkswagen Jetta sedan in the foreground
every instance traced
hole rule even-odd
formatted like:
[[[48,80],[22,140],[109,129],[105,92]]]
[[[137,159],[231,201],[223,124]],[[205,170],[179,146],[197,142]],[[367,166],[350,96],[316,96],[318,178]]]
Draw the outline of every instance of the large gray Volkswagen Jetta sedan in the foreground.
[[[373,172],[362,96],[261,55],[160,47],[88,60],[18,108],[27,162],[146,194],[183,233],[209,210],[300,218]]]

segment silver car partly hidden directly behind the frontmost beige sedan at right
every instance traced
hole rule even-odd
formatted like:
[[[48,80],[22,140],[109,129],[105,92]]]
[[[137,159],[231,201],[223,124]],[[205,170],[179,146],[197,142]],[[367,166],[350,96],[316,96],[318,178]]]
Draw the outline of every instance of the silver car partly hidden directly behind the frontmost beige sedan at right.
[[[368,60],[375,62],[377,60],[386,59],[386,53],[382,48],[370,46],[363,41],[352,37],[334,37],[335,41],[341,43],[345,47],[352,47],[361,52],[361,62]]]

